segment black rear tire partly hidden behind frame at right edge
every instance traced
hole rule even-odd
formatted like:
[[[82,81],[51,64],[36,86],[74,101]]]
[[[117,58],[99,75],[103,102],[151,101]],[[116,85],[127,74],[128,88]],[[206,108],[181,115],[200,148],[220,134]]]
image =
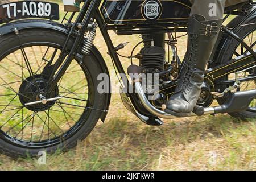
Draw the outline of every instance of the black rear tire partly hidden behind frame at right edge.
[[[237,23],[240,22],[241,19],[243,19],[241,16],[237,16],[237,18],[233,22],[231,22],[228,25],[228,27],[234,27]],[[251,32],[254,32],[256,30],[256,24],[254,24],[255,22],[256,22],[256,15],[254,14],[254,18],[251,19],[250,22],[246,23],[246,24],[250,24],[250,23],[253,23],[253,24],[240,27],[234,33],[237,34],[242,39],[246,38],[247,35],[250,35]],[[228,40],[228,42],[225,43],[224,47],[226,47],[226,49],[221,52],[220,59],[219,59],[221,60],[221,64],[226,63],[227,61],[232,59],[232,56],[234,55],[234,51],[236,51],[239,45],[240,44],[234,39],[230,39]],[[225,81],[225,80],[228,80],[228,76],[222,77],[217,81]],[[219,85],[217,89],[220,89],[222,92],[223,90],[226,89],[226,87]],[[228,99],[229,99],[229,96],[227,95],[226,97],[218,98],[217,101],[219,104],[223,104]],[[256,112],[248,111],[248,110],[240,111],[236,113],[228,113],[228,114],[234,118],[242,119],[243,121],[246,121],[247,118],[256,118]]]

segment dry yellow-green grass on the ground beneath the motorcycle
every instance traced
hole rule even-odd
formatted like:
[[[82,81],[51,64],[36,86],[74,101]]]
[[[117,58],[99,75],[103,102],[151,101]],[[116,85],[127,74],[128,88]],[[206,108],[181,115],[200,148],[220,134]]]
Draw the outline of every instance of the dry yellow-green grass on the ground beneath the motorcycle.
[[[116,36],[115,45],[130,41],[128,55],[138,35]],[[180,55],[186,38],[179,40]],[[96,47],[113,70],[100,32]],[[139,51],[139,48],[137,49]],[[183,57],[183,56],[181,56]],[[122,59],[127,67],[129,60]],[[161,127],[144,125],[113,94],[108,118],[76,148],[47,155],[46,165],[37,158],[13,160],[0,155],[0,170],[255,170],[255,120],[237,121],[227,114],[164,120]]]

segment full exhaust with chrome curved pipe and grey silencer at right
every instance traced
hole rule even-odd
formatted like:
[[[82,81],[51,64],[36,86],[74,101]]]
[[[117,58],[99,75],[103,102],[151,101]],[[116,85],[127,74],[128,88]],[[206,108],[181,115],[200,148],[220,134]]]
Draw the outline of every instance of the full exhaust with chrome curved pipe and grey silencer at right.
[[[141,101],[142,105],[145,107],[147,111],[154,114],[156,117],[164,118],[164,119],[175,119],[179,117],[175,117],[174,115],[168,114],[162,110],[156,109],[147,99],[146,95],[143,92],[143,88],[139,79],[134,80],[134,87],[135,93],[138,94],[139,100]],[[256,89],[249,90],[244,92],[236,92],[232,93],[229,100],[227,100],[224,104],[217,106],[217,107],[195,107],[193,113],[190,115],[192,116],[201,116],[201,115],[208,115],[208,114],[218,114],[218,113],[233,113],[237,111],[246,110],[251,101],[256,98]]]

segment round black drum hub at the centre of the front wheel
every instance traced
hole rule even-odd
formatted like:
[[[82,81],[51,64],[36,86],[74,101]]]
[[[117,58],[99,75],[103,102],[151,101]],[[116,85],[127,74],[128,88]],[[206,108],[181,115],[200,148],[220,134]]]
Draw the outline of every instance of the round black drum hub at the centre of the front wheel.
[[[46,86],[48,80],[42,75],[34,75],[23,80],[19,88],[19,100],[24,106],[28,102],[42,101],[40,104],[25,106],[28,110],[44,111],[51,108],[55,102],[44,102],[46,98],[53,98],[59,95],[59,89],[56,85],[52,92],[47,93]]]

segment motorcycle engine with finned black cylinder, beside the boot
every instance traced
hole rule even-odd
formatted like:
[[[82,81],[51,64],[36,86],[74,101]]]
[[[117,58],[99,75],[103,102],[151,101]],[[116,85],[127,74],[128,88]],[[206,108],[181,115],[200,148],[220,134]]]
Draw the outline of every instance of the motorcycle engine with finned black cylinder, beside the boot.
[[[137,46],[141,43],[144,43],[144,46],[137,55],[133,55],[137,46],[133,48],[130,57],[131,65],[127,69],[128,74],[146,73],[147,78],[152,78],[146,81],[150,88],[147,90],[147,97],[155,107],[159,108],[166,103],[168,93],[174,92],[174,80],[179,75],[177,68],[181,64],[177,56],[176,37],[172,35],[168,37],[169,40],[166,40],[165,34],[143,34],[141,37],[143,40]],[[167,52],[164,49],[166,45],[168,46]],[[133,58],[138,59],[139,64],[133,64]],[[160,91],[155,93],[156,90]]]

